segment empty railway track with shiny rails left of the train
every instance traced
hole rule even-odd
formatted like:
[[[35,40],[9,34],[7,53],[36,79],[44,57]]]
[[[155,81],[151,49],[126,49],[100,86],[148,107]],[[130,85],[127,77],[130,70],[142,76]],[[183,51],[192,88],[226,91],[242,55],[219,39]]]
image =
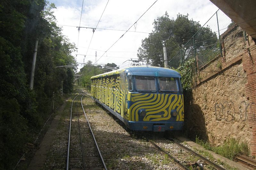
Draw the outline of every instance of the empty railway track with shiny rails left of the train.
[[[66,169],[107,169],[78,92],[71,104]]]

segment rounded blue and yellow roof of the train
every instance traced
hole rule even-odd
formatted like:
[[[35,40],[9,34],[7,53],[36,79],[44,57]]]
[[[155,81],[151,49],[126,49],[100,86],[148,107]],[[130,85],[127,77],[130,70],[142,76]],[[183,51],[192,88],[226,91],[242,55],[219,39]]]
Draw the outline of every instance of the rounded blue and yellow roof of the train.
[[[92,76],[91,78],[105,77],[120,73],[127,73],[128,75],[140,75],[140,76],[156,76],[156,77],[181,77],[178,71],[167,69],[163,67],[153,66],[132,66],[123,69],[113,70],[107,73]]]

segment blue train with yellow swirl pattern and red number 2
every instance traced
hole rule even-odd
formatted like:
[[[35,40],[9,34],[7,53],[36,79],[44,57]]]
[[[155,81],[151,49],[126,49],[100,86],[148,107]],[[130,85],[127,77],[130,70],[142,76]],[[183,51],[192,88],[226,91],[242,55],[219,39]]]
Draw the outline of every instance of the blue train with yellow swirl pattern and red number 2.
[[[91,77],[91,95],[131,130],[180,130],[184,104],[180,74],[134,66]]]

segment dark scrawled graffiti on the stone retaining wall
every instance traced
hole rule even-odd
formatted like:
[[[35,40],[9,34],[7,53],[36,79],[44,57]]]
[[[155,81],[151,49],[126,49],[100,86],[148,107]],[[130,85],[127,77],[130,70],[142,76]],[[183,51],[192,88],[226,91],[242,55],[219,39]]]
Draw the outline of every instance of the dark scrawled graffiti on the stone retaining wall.
[[[218,121],[246,121],[248,120],[250,104],[246,101],[242,101],[236,106],[232,101],[226,101],[224,103],[216,102],[214,109],[215,119]]]

